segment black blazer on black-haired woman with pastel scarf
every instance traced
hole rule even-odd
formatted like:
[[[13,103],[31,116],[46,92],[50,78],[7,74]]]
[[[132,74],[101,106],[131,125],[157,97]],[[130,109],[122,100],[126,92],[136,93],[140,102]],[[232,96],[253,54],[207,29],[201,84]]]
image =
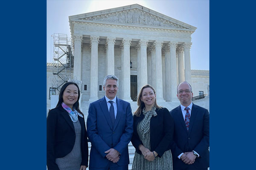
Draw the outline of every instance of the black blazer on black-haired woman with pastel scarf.
[[[84,118],[78,116],[81,124],[81,165],[88,167],[88,143]],[[71,152],[76,140],[75,127],[67,111],[54,108],[47,116],[47,167],[48,170],[59,170],[56,158],[62,158]]]

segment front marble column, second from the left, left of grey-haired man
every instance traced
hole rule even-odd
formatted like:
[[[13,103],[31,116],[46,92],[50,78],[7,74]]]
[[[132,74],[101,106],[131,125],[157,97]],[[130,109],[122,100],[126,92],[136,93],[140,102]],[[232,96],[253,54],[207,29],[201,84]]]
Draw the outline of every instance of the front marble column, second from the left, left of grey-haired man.
[[[94,101],[98,98],[98,44],[99,36],[90,36],[91,62],[90,62],[90,98]]]

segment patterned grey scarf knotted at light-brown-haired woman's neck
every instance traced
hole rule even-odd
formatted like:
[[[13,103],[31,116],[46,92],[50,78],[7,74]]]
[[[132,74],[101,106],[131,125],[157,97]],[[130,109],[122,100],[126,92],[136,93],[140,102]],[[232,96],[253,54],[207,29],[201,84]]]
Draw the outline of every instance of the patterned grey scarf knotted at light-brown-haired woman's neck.
[[[146,133],[149,132],[151,117],[157,116],[156,107],[153,106],[151,108],[151,111],[147,111],[147,112],[145,111],[145,108],[143,108],[142,113],[144,115],[144,119],[141,122],[141,127],[142,127],[142,133],[143,133],[143,135],[145,135]]]

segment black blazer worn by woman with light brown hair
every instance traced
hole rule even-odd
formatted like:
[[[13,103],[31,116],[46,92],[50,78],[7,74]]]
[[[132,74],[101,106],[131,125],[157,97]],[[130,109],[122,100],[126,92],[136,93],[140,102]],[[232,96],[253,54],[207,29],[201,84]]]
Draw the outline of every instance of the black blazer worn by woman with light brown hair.
[[[166,150],[170,149],[174,123],[167,108],[156,109],[156,112],[157,116],[152,116],[150,119],[150,151],[156,151],[161,157]],[[143,118],[143,113],[139,117],[134,115],[134,133],[131,139],[131,143],[139,154],[142,154],[139,145],[143,143],[137,133],[137,125]]]

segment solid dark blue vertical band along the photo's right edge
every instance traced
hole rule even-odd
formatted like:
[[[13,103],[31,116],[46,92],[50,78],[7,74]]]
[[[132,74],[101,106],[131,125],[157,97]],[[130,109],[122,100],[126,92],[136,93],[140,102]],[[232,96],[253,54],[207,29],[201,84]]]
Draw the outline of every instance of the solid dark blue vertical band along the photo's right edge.
[[[255,6],[210,0],[210,170],[255,169]]]

